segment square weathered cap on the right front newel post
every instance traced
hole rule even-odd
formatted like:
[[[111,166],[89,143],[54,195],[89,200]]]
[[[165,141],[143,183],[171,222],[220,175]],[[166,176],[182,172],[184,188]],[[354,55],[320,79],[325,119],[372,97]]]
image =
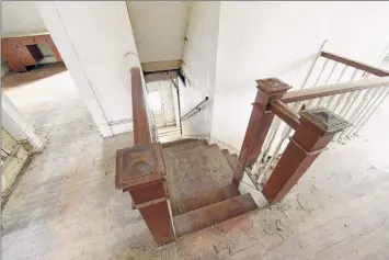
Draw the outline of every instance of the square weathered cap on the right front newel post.
[[[352,126],[351,123],[324,108],[300,111],[299,114],[301,126],[321,136],[335,134]]]

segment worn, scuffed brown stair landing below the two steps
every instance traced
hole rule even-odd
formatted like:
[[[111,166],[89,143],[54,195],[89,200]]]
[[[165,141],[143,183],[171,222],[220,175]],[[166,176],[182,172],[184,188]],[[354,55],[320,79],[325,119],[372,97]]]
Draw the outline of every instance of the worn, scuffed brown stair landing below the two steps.
[[[163,148],[173,212],[180,202],[198,193],[228,186],[232,169],[217,145],[204,140],[180,142]]]

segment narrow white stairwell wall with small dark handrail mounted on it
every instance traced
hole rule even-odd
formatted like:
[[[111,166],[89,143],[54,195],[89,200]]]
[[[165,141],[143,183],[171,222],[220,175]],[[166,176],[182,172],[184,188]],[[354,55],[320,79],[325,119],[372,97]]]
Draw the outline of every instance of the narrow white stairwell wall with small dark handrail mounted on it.
[[[182,122],[184,135],[209,135],[216,77],[216,53],[220,2],[192,2],[184,47],[183,72],[188,83],[180,83],[181,115],[209,97],[202,111]]]

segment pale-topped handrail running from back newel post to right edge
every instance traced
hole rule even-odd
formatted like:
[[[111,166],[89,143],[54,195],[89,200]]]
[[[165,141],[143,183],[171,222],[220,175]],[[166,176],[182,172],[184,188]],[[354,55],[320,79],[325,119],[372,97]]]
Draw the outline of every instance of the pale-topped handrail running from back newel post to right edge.
[[[289,91],[282,98],[282,101],[284,103],[294,103],[298,101],[311,100],[311,99],[329,97],[334,94],[342,94],[346,92],[371,89],[377,87],[389,87],[389,77],[364,79],[364,80],[358,80],[353,82],[328,84],[328,86],[314,87],[311,89]]]

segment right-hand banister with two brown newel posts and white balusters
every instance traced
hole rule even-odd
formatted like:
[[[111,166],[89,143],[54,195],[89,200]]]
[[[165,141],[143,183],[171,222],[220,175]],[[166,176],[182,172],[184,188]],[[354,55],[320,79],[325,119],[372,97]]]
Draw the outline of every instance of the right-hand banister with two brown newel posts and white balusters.
[[[339,83],[343,69],[335,83],[295,91],[288,91],[291,87],[278,79],[256,81],[258,94],[234,182],[247,170],[271,202],[281,201],[289,192],[331,140],[356,135],[389,95],[389,72],[333,54],[321,54],[344,64],[345,68],[355,68],[352,79]],[[327,65],[324,61],[323,67]],[[365,76],[353,81],[358,70]],[[331,74],[325,82],[330,82]]]

